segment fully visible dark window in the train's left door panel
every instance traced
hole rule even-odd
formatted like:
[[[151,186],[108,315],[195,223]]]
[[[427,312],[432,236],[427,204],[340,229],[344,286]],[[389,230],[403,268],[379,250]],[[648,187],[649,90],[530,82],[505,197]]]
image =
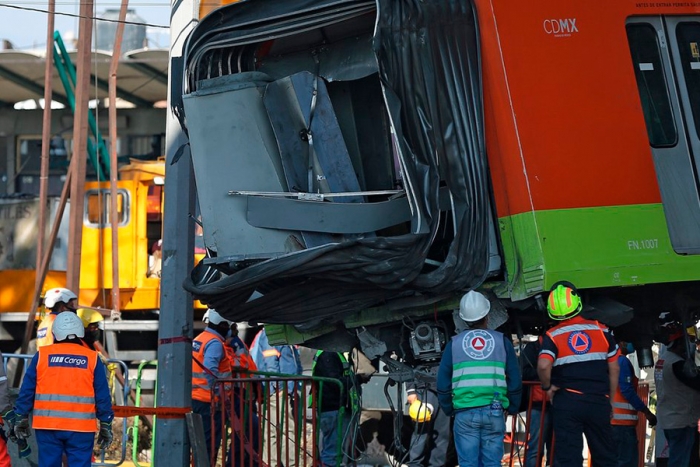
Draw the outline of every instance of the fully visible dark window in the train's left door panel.
[[[678,135],[656,30],[649,24],[628,24],[627,40],[649,143],[654,147],[674,146]]]

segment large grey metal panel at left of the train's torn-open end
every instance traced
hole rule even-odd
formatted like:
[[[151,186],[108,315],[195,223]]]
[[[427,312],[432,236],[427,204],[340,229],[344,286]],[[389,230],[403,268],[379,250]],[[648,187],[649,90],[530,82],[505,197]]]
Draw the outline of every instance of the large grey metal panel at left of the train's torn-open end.
[[[228,77],[231,78],[231,77]],[[295,232],[257,229],[245,220],[247,202],[228,196],[241,190],[287,191],[277,145],[262,104],[260,75],[241,76],[218,88],[204,88],[184,99],[197,178],[197,193],[205,223],[204,242],[217,252],[284,252]],[[243,170],[245,168],[245,170]]]

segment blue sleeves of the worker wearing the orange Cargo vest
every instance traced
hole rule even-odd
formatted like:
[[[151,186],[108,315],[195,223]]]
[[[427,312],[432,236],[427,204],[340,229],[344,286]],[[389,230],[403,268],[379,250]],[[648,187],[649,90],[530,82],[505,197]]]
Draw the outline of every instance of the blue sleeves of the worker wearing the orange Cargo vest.
[[[60,345],[60,343],[59,343]],[[22,380],[22,387],[19,390],[19,396],[15,402],[15,412],[18,415],[27,416],[34,409],[34,397],[36,395],[36,365],[39,361],[39,353],[35,353],[32,361],[27,368]],[[107,383],[107,372],[102,360],[97,359],[95,372],[92,383],[95,390],[95,415],[101,422],[111,422],[114,418],[112,410],[112,396],[109,393],[109,384]],[[70,427],[66,427],[69,429]],[[68,430],[70,431],[70,430]]]

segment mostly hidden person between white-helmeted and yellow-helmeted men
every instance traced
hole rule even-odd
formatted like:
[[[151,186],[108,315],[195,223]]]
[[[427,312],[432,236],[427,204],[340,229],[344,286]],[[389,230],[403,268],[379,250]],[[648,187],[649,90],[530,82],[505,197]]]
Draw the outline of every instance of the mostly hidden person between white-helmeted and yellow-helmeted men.
[[[521,354],[523,360],[523,381],[533,383],[528,385],[531,406],[528,414],[529,436],[527,438],[525,467],[541,466],[545,451],[547,452],[545,465],[551,464],[552,404],[542,390],[540,379],[537,376],[537,358],[541,349],[542,336],[539,336],[537,340],[528,342]]]

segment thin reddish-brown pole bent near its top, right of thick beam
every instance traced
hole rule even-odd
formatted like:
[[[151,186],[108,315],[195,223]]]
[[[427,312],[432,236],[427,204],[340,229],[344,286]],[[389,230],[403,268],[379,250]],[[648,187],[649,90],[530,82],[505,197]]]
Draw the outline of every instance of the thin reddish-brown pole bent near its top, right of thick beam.
[[[124,37],[124,21],[129,0],[122,0],[119,10],[119,22],[112,50],[112,63],[109,65],[109,193],[110,212],[109,220],[112,225],[112,319],[121,316],[119,312],[119,213],[117,212],[117,70],[119,69],[119,57],[122,53],[122,38]]]

